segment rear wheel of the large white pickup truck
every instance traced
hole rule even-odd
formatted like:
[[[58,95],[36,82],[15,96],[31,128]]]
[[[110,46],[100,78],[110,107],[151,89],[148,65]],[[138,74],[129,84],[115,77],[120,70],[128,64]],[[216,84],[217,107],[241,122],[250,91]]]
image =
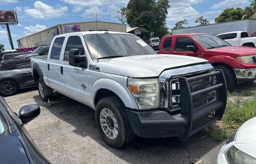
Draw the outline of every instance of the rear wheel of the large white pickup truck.
[[[42,101],[48,101],[48,99],[52,99],[52,89],[46,86],[41,78],[37,80],[37,89]]]

